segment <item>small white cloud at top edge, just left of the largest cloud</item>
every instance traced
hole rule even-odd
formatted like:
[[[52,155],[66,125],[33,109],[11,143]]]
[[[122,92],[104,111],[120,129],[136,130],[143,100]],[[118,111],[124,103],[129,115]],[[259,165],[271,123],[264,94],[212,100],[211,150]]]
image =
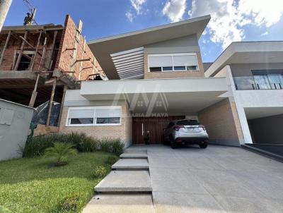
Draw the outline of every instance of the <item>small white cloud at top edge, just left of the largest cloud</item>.
[[[183,20],[186,10],[186,0],[168,0],[163,7],[162,13],[167,16],[171,22]]]

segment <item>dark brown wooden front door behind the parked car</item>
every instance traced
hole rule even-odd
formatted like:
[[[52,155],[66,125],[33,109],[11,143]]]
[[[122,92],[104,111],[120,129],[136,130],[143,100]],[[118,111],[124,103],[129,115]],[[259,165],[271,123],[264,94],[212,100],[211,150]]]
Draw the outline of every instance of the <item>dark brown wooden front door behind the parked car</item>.
[[[163,128],[170,121],[184,118],[185,116],[132,118],[132,141],[134,144],[144,144],[144,138],[148,136],[150,144],[162,143]]]

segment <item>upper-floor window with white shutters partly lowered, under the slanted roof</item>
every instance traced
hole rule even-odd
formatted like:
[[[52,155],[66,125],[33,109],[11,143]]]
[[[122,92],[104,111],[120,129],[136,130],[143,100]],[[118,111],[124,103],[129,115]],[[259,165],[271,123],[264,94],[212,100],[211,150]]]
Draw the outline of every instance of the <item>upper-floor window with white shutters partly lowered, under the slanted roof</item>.
[[[199,71],[197,54],[149,55],[149,72]]]

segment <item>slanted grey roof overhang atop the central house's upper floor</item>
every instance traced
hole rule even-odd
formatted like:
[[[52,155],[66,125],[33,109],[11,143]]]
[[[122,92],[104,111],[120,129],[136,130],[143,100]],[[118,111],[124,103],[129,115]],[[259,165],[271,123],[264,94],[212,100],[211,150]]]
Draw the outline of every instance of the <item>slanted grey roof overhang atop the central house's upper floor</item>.
[[[111,54],[186,35],[196,34],[197,39],[199,39],[209,20],[210,16],[202,16],[178,23],[95,39],[88,42],[88,47],[90,47],[107,77],[110,80],[115,80],[119,79],[119,75],[111,59]]]

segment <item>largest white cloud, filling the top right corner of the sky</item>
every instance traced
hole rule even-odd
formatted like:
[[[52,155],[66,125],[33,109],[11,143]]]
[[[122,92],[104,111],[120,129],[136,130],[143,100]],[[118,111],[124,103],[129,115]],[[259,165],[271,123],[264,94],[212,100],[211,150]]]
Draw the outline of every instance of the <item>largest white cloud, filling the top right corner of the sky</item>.
[[[245,38],[245,25],[269,28],[277,23],[283,14],[283,1],[269,0],[192,0],[188,12],[191,18],[210,14],[207,26],[210,39],[220,43],[222,48]]]

